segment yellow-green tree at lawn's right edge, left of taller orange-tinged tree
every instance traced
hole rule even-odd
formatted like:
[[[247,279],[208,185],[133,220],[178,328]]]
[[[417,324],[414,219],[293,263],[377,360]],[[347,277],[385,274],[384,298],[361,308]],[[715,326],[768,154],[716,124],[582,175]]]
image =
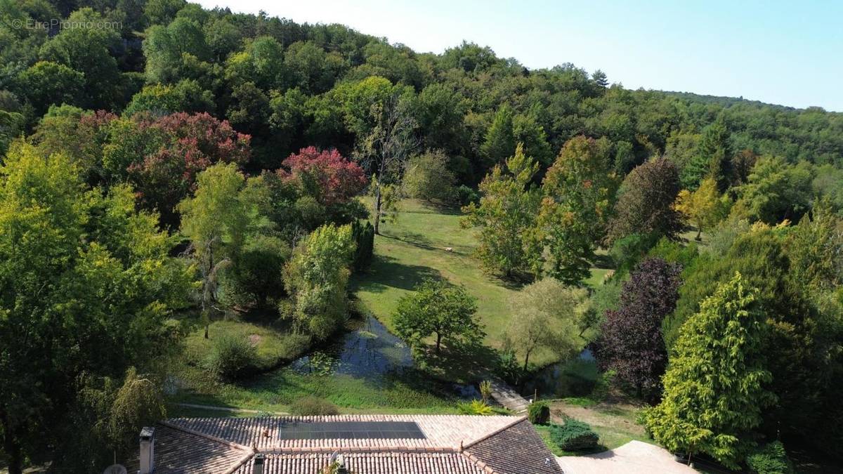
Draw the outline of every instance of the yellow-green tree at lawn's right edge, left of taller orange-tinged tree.
[[[480,202],[463,207],[463,225],[478,228],[476,256],[488,270],[505,277],[539,269],[535,224],[540,193],[532,182],[538,169],[518,145],[505,166],[495,165],[483,179]]]

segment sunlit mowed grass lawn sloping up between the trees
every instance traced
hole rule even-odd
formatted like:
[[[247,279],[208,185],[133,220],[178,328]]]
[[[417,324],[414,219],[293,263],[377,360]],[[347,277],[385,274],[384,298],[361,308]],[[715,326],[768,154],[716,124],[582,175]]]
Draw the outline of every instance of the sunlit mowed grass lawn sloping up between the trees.
[[[392,315],[398,299],[427,277],[447,278],[464,285],[477,301],[485,326],[485,344],[501,347],[510,317],[509,300],[520,285],[483,272],[475,250],[474,229],[459,227],[459,210],[442,211],[414,200],[401,202],[397,222],[381,224],[374,241],[372,266],[352,277],[352,288],[384,325],[394,330]],[[446,250],[450,248],[451,250]],[[530,358],[536,364],[555,360],[550,353]]]

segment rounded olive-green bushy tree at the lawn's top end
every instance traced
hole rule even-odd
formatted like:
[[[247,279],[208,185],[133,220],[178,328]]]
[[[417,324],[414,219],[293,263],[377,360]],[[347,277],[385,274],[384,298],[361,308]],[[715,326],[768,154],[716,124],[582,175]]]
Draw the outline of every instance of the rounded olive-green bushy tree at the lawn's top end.
[[[448,203],[454,200],[456,177],[448,168],[448,157],[442,150],[429,150],[411,158],[404,172],[404,192],[427,202]]]

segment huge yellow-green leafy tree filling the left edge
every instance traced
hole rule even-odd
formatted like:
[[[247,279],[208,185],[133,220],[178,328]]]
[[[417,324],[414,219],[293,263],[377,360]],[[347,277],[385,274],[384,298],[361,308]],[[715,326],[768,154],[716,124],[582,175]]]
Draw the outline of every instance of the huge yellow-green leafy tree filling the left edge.
[[[0,438],[10,472],[61,445],[83,395],[79,376],[120,380],[132,365],[165,364],[177,347],[165,320],[184,303],[188,273],[169,257],[175,242],[157,221],[137,213],[127,186],[86,190],[61,154],[20,144],[3,160]]]

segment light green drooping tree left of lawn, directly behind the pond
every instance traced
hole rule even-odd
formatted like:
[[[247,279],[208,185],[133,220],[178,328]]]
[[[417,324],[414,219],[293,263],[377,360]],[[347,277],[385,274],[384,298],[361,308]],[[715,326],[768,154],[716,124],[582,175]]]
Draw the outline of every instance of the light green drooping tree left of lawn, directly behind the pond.
[[[295,303],[293,321],[325,339],[346,318],[346,286],[354,256],[352,227],[329,224],[314,230],[293,250],[284,284]]]

